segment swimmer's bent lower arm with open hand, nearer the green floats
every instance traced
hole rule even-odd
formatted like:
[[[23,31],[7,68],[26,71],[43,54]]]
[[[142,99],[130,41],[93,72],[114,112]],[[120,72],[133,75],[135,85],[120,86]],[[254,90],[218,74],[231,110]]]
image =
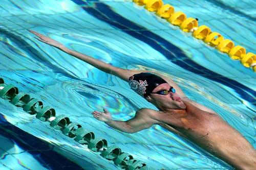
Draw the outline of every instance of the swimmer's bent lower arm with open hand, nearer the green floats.
[[[147,109],[140,109],[136,112],[135,116],[125,122],[113,120],[108,110],[104,109],[104,112],[94,111],[92,114],[94,117],[110,127],[126,133],[135,133],[143,129],[150,128],[152,125],[158,122],[149,116],[144,114]]]

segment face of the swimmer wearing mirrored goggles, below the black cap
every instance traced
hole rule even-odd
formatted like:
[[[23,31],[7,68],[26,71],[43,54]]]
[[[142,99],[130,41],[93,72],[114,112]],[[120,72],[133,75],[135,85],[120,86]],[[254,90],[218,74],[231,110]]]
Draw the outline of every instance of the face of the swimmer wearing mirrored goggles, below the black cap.
[[[182,102],[180,96],[176,93],[172,86],[163,83],[157,86],[152,93],[146,96],[146,100],[162,109],[185,109],[186,106]]]

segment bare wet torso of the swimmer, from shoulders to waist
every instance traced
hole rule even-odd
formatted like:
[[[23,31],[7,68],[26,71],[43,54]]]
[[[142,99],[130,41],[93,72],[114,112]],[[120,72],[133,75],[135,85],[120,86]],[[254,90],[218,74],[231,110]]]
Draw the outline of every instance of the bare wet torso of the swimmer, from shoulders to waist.
[[[237,130],[217,114],[203,111],[189,101],[184,103],[186,110],[171,113],[170,118],[168,113],[162,117],[167,120],[163,127],[174,128],[201,148],[236,167],[255,167],[256,152]]]

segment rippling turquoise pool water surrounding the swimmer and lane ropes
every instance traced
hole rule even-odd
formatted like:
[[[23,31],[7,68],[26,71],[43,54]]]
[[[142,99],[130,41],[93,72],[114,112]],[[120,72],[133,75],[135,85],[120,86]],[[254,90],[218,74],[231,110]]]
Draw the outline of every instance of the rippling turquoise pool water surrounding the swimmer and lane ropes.
[[[254,1],[163,1],[256,53]],[[132,1],[1,1],[0,77],[155,169],[231,169],[154,126],[118,132],[91,115],[127,120],[156,109],[122,80],[39,42],[29,29],[122,68],[158,70],[255,144],[255,74]],[[0,99],[1,169],[119,169],[112,161]],[[65,160],[65,161],[64,161]]]

